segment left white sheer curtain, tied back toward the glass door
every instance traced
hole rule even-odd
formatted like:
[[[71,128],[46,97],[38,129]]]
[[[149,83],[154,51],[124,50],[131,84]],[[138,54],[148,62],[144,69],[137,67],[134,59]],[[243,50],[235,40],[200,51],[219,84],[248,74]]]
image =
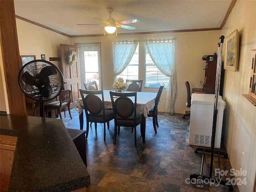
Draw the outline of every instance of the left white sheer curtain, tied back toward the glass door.
[[[113,82],[117,81],[120,75],[132,60],[132,56],[138,46],[137,41],[118,41],[113,44],[114,75]]]

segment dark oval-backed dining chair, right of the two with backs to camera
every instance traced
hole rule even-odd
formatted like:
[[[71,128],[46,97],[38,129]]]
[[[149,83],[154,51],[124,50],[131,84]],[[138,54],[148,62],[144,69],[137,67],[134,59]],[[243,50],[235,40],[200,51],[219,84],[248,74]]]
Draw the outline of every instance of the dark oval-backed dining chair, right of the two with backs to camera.
[[[115,98],[114,98],[115,97]],[[117,97],[117,98],[116,98]],[[134,142],[137,146],[136,126],[142,122],[141,114],[137,114],[137,92],[118,93],[110,91],[112,108],[114,111],[114,144],[116,144],[117,132],[120,133],[120,127],[134,128]],[[134,99],[134,101],[132,100]]]

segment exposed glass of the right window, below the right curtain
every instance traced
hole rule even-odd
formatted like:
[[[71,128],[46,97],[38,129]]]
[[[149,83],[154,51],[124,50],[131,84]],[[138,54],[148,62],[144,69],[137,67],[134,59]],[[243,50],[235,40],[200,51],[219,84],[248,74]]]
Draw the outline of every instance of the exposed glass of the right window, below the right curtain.
[[[146,60],[145,60],[145,87],[160,87],[162,83],[166,87],[169,82],[169,77],[165,76],[160,72],[152,61],[148,51],[146,49]]]

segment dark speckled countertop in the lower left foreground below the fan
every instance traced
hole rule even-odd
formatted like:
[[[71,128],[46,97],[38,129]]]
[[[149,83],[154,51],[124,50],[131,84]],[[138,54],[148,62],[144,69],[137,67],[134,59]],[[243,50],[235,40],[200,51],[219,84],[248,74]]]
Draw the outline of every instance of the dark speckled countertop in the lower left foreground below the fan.
[[[90,185],[62,120],[0,114],[0,128],[18,136],[8,191],[69,192]]]

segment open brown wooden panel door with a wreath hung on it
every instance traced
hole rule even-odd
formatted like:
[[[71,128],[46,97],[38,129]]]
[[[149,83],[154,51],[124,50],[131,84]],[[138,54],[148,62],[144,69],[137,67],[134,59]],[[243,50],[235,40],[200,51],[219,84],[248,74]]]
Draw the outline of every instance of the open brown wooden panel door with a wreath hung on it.
[[[76,101],[79,98],[80,80],[78,61],[74,66],[69,66],[68,64],[68,55],[70,51],[78,53],[75,45],[60,44],[61,71],[64,78],[64,89],[71,90],[72,100],[70,108],[74,108],[76,106]]]

